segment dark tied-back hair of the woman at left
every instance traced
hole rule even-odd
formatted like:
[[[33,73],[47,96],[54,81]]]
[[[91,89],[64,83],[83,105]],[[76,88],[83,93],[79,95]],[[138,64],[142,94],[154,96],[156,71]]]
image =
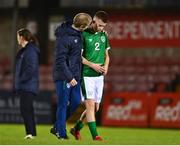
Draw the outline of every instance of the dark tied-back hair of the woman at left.
[[[39,42],[37,41],[36,37],[26,28],[22,28],[17,31],[19,36],[22,36],[26,41],[39,46]]]

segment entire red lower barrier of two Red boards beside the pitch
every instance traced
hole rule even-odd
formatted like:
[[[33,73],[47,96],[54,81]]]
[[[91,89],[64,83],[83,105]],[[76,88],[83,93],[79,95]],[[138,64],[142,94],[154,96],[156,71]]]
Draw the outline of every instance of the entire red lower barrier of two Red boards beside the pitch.
[[[180,128],[180,94],[106,95],[101,121],[104,126]]]

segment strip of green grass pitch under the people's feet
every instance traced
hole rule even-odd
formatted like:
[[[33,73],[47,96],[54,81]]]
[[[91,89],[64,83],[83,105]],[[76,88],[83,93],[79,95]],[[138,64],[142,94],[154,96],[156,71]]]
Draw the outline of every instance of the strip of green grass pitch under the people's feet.
[[[67,126],[69,130],[71,125]],[[0,145],[172,145],[180,144],[179,129],[98,127],[103,141],[93,141],[87,126],[81,131],[82,139],[76,141],[69,133],[69,140],[58,140],[49,133],[50,125],[37,125],[37,137],[25,140],[21,124],[0,124]]]

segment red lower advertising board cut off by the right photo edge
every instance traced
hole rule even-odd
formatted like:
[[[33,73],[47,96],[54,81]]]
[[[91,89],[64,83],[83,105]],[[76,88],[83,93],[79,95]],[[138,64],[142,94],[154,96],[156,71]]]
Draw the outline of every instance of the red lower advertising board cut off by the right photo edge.
[[[180,94],[153,94],[150,98],[150,126],[180,128]]]

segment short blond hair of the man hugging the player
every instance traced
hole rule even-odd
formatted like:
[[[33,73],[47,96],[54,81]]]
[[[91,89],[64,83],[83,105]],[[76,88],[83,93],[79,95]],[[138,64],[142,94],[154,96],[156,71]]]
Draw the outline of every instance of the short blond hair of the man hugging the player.
[[[76,28],[85,28],[92,21],[92,17],[87,13],[78,13],[74,16],[73,25]]]

